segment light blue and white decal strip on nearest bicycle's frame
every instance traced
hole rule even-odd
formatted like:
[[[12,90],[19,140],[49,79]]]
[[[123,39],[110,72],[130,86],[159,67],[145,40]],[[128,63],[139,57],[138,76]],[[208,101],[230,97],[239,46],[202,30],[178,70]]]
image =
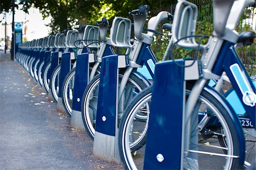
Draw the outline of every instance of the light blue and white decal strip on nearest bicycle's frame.
[[[249,106],[255,106],[256,94],[253,92],[247,78],[243,75],[239,65],[237,63],[230,65],[230,70],[236,80],[236,83],[243,94],[243,103]]]

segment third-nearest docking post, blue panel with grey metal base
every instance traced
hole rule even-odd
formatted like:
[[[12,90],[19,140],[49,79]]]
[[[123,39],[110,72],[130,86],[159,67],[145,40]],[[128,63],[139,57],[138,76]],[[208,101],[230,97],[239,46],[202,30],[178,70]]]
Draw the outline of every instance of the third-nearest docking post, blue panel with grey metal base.
[[[75,129],[85,130],[82,113],[81,98],[83,92],[88,85],[89,80],[89,63],[93,63],[96,59],[94,53],[82,53],[77,55],[76,67],[74,75],[74,93],[72,102],[71,127]]]

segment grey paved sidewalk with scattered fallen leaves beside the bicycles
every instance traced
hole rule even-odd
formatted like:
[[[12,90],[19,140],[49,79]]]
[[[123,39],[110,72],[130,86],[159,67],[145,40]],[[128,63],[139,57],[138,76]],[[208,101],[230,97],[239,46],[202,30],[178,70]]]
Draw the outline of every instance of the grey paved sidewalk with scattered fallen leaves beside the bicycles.
[[[85,131],[71,129],[30,75],[0,53],[0,170],[120,170],[92,155]]]

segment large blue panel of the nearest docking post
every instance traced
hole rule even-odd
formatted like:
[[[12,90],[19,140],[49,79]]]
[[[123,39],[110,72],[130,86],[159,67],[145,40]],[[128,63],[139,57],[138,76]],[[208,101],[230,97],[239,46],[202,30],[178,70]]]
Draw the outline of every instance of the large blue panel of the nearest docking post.
[[[176,62],[184,65],[182,59]],[[179,170],[181,168],[184,105],[184,68],[175,65],[173,61],[156,64],[144,170]]]

